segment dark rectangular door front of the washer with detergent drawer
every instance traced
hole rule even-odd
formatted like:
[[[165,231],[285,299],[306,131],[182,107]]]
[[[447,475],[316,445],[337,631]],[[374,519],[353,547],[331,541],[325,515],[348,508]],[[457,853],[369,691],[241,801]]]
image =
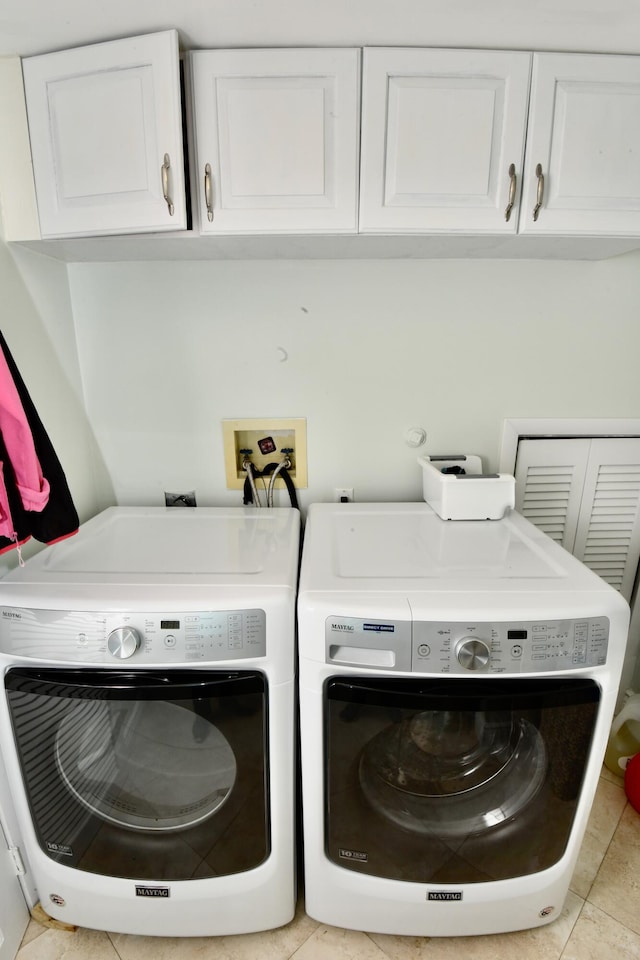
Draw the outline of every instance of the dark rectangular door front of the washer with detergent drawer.
[[[522,877],[562,856],[600,691],[591,680],[326,684],[325,846],[417,882]]]

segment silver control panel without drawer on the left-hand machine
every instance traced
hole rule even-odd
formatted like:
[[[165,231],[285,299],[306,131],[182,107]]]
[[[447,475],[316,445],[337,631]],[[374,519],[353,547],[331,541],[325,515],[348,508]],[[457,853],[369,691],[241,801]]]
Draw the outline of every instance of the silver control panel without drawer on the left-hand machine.
[[[95,613],[0,607],[0,650],[88,663],[218,663],[266,656],[264,610]]]

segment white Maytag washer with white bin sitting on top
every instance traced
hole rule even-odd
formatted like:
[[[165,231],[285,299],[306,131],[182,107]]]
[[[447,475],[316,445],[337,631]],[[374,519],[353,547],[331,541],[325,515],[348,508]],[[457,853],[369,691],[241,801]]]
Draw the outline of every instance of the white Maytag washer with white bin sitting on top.
[[[516,513],[313,505],[298,595],[310,916],[436,937],[558,917],[628,622]]]

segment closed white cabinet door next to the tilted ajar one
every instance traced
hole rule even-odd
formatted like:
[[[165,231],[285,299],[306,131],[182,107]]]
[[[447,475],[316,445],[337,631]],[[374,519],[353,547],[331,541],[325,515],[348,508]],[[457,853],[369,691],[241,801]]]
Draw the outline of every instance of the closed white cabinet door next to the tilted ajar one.
[[[201,233],[355,232],[359,51],[189,60]]]

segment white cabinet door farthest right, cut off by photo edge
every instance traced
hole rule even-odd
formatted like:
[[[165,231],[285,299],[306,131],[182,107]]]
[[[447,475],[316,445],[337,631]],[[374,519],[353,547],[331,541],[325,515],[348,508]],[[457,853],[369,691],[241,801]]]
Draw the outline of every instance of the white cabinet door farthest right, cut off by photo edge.
[[[640,233],[640,57],[534,55],[520,232]]]

